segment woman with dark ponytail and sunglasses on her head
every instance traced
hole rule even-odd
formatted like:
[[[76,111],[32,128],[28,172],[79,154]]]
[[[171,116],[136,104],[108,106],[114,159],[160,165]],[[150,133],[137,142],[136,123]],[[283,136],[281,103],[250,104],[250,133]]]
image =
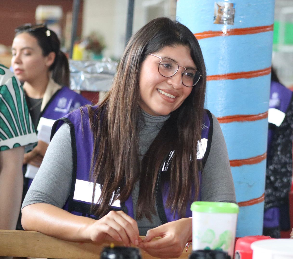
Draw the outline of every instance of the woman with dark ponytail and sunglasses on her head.
[[[16,29],[11,65],[23,82],[33,125],[38,131],[44,132],[38,145],[24,157],[24,164],[38,168],[50,138],[50,128],[42,130],[42,126],[52,126],[56,119],[90,102],[68,88],[67,57],[60,51],[57,35],[45,25],[25,24]],[[35,172],[27,172],[28,178],[33,178]]]

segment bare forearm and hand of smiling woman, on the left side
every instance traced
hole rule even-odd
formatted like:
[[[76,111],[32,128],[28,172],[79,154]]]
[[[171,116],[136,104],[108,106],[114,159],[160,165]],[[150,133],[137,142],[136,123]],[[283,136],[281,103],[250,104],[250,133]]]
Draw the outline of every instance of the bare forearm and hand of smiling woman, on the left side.
[[[22,209],[22,226],[48,236],[68,241],[94,241],[104,239],[138,245],[142,239],[136,221],[122,211],[110,211],[99,220],[69,213],[51,204],[35,203]]]

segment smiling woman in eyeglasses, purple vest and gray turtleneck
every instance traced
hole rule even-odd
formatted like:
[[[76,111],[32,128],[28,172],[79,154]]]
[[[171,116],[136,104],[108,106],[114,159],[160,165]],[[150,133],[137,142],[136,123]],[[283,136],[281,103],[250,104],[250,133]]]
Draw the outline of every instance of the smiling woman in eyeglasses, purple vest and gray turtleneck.
[[[179,256],[192,237],[192,201],[235,202],[219,123],[203,109],[205,84],[200,46],[187,27],[168,18],[142,27],[99,106],[54,124],[23,202],[23,227]]]

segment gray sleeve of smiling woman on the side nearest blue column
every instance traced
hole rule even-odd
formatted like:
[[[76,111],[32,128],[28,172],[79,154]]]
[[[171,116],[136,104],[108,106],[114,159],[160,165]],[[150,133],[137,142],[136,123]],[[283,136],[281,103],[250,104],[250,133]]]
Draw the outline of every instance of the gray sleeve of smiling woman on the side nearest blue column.
[[[202,171],[201,200],[236,203],[226,143],[217,118],[213,114],[212,118],[212,143]]]

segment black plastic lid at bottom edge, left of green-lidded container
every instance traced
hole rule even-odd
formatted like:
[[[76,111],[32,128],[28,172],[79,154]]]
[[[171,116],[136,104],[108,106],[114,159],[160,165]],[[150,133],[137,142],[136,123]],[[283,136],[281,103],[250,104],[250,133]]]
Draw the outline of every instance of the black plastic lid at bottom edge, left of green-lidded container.
[[[134,247],[104,247],[100,259],[141,259],[139,250]]]

